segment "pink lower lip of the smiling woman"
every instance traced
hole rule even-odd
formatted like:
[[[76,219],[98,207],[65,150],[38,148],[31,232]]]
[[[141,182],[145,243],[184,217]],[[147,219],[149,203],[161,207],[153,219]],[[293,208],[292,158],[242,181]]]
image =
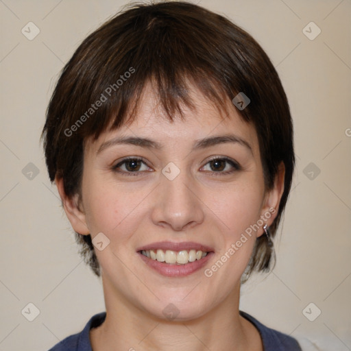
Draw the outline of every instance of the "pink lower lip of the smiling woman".
[[[157,271],[162,276],[168,277],[183,277],[189,276],[190,274],[202,269],[204,265],[208,262],[210,257],[213,255],[213,252],[208,252],[208,254],[201,258],[200,260],[196,260],[194,262],[186,263],[185,265],[177,265],[172,263],[158,262],[153,260],[152,258],[147,258],[141,252],[138,252],[141,259],[152,269]]]

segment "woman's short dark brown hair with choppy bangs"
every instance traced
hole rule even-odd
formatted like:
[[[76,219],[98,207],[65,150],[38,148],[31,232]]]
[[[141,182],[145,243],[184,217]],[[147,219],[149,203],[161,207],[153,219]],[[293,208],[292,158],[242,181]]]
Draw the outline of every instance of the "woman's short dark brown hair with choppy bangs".
[[[132,121],[147,82],[165,116],[193,108],[194,84],[217,108],[238,93],[250,98],[239,114],[258,135],[266,189],[285,165],[285,189],[270,230],[274,237],[291,188],[295,156],[289,104],[276,69],[254,38],[230,20],[182,1],[134,4],[101,25],[64,66],[47,108],[43,129],[51,182],[62,178],[66,195],[80,194],[84,141],[112,125]],[[98,103],[100,101],[100,103]],[[127,120],[128,117],[128,120]],[[97,276],[90,235],[76,233],[81,254]],[[274,249],[256,240],[248,266],[267,271]]]

